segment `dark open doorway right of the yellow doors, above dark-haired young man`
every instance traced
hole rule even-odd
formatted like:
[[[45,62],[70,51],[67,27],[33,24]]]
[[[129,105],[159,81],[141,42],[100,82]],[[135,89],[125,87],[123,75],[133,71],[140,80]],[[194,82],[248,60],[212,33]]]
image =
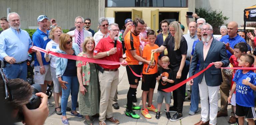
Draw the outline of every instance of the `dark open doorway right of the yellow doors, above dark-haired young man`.
[[[179,21],[179,12],[159,12],[159,23],[164,19],[169,20],[169,22]],[[159,29],[161,29],[160,25]]]

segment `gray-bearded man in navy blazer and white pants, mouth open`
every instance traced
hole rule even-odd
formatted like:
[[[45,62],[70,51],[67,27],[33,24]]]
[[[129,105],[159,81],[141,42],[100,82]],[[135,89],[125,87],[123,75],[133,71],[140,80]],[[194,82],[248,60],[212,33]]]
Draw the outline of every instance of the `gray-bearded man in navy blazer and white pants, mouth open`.
[[[212,33],[212,26],[204,23],[201,28],[203,42],[196,44],[189,69],[189,77],[191,77],[195,74],[198,61],[200,62],[199,71],[205,69],[210,63],[214,63],[214,66],[211,66],[198,76],[202,119],[195,125],[216,125],[218,91],[222,82],[220,67],[227,67],[229,65],[225,44],[213,39]],[[189,84],[193,85],[193,80]],[[210,122],[208,118],[210,118]]]

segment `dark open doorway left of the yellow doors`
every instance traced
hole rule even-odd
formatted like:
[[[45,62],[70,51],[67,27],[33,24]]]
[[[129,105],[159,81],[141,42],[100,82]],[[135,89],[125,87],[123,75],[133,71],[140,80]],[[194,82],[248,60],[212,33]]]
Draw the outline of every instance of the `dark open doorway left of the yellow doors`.
[[[132,18],[132,12],[115,12],[115,23],[120,30],[125,30],[124,21],[128,18]]]

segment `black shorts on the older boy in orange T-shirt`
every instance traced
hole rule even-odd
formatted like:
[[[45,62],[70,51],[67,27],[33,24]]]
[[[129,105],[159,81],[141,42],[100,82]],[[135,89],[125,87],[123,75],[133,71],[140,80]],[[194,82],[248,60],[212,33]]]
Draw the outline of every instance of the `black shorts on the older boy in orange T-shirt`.
[[[156,77],[157,73],[148,75],[142,74],[141,90],[149,91],[149,88],[155,89]]]

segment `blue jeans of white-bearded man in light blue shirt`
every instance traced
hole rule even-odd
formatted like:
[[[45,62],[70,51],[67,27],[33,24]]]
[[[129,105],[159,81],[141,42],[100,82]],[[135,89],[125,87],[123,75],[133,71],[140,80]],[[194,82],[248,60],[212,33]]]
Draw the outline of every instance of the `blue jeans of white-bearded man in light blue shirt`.
[[[5,63],[3,72],[8,79],[20,78],[26,81],[27,79],[27,63],[9,64]]]

